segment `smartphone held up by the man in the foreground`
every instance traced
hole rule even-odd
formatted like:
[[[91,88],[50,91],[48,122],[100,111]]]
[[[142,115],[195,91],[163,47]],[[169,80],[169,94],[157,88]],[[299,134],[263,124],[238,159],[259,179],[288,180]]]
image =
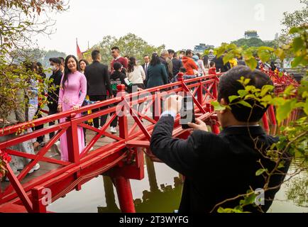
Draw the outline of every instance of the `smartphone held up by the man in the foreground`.
[[[192,96],[184,96],[182,99],[182,108],[180,110],[180,124],[182,129],[189,128],[188,123],[195,123],[196,119],[194,117],[194,101]]]

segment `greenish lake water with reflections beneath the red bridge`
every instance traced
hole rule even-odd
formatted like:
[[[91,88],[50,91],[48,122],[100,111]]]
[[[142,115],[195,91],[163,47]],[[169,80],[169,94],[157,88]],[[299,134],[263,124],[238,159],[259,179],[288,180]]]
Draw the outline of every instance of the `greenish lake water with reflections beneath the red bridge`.
[[[145,158],[145,179],[131,180],[136,212],[172,213],[180,205],[182,177],[163,163]],[[297,162],[290,167],[295,171]],[[159,185],[159,186],[158,186]],[[268,212],[308,212],[308,172],[302,172],[283,184]],[[116,189],[109,177],[97,177],[48,206],[55,212],[121,212]]]

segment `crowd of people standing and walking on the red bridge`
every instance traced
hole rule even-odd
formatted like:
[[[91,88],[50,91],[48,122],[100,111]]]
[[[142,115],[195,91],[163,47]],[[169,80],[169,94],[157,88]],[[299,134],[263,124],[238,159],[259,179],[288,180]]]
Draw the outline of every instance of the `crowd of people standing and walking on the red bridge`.
[[[79,109],[81,106],[97,101],[104,101],[116,96],[117,85],[124,84],[127,92],[132,92],[132,88],[138,87],[138,90],[158,87],[160,85],[177,82],[179,73],[184,74],[184,79],[192,79],[207,74],[216,74],[216,72],[227,72],[236,65],[245,65],[241,58],[224,64],[223,57],[216,57],[214,50],[209,50],[208,55],[203,57],[199,53],[194,53],[192,50],[181,50],[179,54],[174,50],[163,50],[158,53],[153,53],[151,56],[143,57],[143,65],[139,65],[136,57],[121,56],[118,47],[111,48],[113,60],[108,65],[101,64],[101,53],[99,50],[92,51],[92,64],[87,60],[77,60],[74,55],[63,57],[51,57],[50,68],[53,74],[49,77],[50,88],[48,89],[48,115],[57,114],[61,111],[69,111]],[[258,63],[259,64],[259,63]],[[46,75],[40,62],[33,62],[26,65],[28,70],[32,70],[36,74],[40,74],[44,79]],[[258,65],[259,67],[259,65]],[[258,68],[257,67],[257,68]],[[24,121],[32,121],[34,116],[40,116],[38,103],[37,84],[43,81],[31,80],[28,92],[31,92],[31,99],[28,100],[28,111],[22,113],[17,110],[20,118],[9,119],[11,123]],[[108,106],[94,109],[92,112],[103,110]],[[16,115],[16,116],[19,116]],[[23,115],[23,116],[21,116]],[[81,115],[81,114],[79,114]],[[15,116],[15,115],[14,115]],[[107,115],[93,119],[93,126],[101,128],[106,123]],[[60,122],[65,121],[62,119]],[[114,118],[111,122],[110,132],[116,133],[118,118]],[[53,126],[55,122],[50,122],[49,126]],[[43,126],[37,126],[33,129],[29,128],[28,133],[32,130],[38,130]],[[86,131],[81,127],[78,128],[79,153],[82,152],[85,142]],[[55,133],[49,134],[49,139],[52,139]],[[2,140],[5,138],[1,137]],[[34,150],[45,144],[43,136],[31,140],[31,143],[23,143],[23,148],[15,148],[22,152],[34,154]],[[60,136],[60,140],[55,142],[55,150],[61,155],[61,160],[68,161],[69,155],[67,151],[67,135],[66,133]],[[27,160],[26,162],[30,162]],[[23,169],[21,163],[25,163],[21,157],[13,158],[11,166],[14,172],[18,175],[18,170]],[[31,172],[38,170],[40,165],[33,167]]]

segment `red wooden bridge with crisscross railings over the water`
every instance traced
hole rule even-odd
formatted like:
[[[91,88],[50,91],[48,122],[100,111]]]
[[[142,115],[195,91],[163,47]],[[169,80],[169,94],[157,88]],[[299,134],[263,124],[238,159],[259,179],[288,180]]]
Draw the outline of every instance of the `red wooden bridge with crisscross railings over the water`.
[[[276,78],[277,74],[268,72],[270,77]],[[50,202],[59,199],[72,190],[79,191],[82,184],[97,177],[98,175],[108,175],[111,177],[119,198],[121,211],[135,212],[133,196],[131,193],[131,184],[129,179],[143,179],[144,177],[144,158],[143,153],[148,155],[151,160],[160,162],[149,150],[150,137],[161,113],[161,103],[166,96],[175,93],[192,94],[196,117],[211,126],[214,133],[219,133],[219,123],[216,113],[211,106],[211,101],[216,100],[217,84],[220,74],[212,74],[195,79],[183,81],[182,77],[179,82],[166,84],[153,89],[125,94],[124,87],[119,86],[120,96],[101,101],[97,104],[84,106],[77,111],[67,111],[55,114],[45,118],[39,118],[31,123],[21,123],[16,126],[4,128],[0,135],[17,135],[10,140],[0,143],[0,150],[9,155],[16,155],[31,159],[31,162],[16,177],[9,165],[8,183],[0,182],[0,212],[46,212],[48,206],[48,196]],[[280,79],[280,77],[277,77]],[[284,79],[290,81],[285,84],[295,83],[287,76]],[[281,87],[283,81],[275,81],[276,87]],[[116,117],[116,105],[122,111],[128,111],[128,115],[119,116],[119,133],[111,134],[106,131],[109,124]],[[142,106],[136,110],[136,106]],[[113,106],[108,109],[97,111],[87,116],[75,118],[76,114],[98,109],[103,106]],[[154,106],[155,117],[148,116],[147,113]],[[90,119],[109,114],[110,117],[106,124],[97,129],[84,123]],[[275,113],[273,106],[269,109],[268,114],[273,126],[276,125]],[[296,114],[292,115],[295,118]],[[33,131],[32,133],[21,133],[29,127],[39,126],[50,121],[57,121],[60,118],[66,118],[64,123],[58,123],[55,126]],[[180,126],[180,117],[175,120],[173,136],[177,138],[187,138],[189,132],[183,130]],[[87,135],[90,136],[88,145],[81,154],[78,148],[77,126],[87,129]],[[269,131],[267,114],[263,117],[263,126],[265,131]],[[37,138],[40,135],[47,135],[55,132],[55,136],[38,150],[36,155],[22,153],[17,150],[11,150],[10,147],[24,141]],[[60,135],[67,133],[67,145],[69,150],[69,161],[58,160],[59,157],[50,157],[50,148],[60,138]],[[101,138],[104,136],[104,138]],[[94,148],[94,150],[92,150]],[[92,151],[90,151],[92,150]],[[40,162],[41,169],[39,176],[33,177],[28,172]],[[36,174],[36,173],[35,173]]]

